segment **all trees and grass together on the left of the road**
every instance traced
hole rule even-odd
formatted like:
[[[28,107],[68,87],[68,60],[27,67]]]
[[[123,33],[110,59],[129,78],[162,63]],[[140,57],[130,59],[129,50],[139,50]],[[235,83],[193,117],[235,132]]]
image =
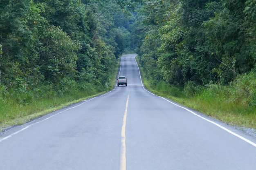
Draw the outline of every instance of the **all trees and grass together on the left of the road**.
[[[106,91],[139,0],[1,0],[0,124]]]

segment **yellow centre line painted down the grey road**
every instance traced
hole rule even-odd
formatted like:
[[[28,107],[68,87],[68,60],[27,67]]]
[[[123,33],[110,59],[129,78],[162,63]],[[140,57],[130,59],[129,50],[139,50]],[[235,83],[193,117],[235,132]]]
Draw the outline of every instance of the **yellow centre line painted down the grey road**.
[[[120,152],[120,170],[126,170],[126,117],[129,103],[129,94],[126,101],[126,108],[124,111],[123,126],[121,130],[121,152]]]

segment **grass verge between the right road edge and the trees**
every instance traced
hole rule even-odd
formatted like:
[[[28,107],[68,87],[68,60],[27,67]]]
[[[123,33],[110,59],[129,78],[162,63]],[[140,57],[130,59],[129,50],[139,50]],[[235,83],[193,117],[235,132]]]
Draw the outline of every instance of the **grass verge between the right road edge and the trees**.
[[[154,84],[142,70],[144,85],[154,94],[167,97],[231,126],[256,129],[256,75],[240,75],[228,85],[207,84],[184,88],[165,82]]]

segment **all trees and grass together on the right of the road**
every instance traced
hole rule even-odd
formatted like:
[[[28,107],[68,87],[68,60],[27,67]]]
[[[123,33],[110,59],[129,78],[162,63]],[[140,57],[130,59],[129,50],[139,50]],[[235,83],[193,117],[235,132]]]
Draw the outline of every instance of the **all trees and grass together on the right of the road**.
[[[255,0],[146,1],[133,37],[148,84],[208,115],[246,117],[255,127],[255,14]]]

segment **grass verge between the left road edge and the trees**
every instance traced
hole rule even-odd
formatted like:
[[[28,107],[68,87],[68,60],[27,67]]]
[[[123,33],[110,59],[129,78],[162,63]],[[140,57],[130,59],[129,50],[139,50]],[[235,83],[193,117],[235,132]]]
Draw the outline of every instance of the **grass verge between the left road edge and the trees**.
[[[24,124],[32,119],[47,115],[71,104],[95,97],[113,89],[119,69],[120,60],[113,67],[110,79],[105,84],[95,86],[90,83],[75,83],[58,93],[52,88],[42,86],[42,92],[11,91],[1,88],[0,91],[0,132],[14,125]]]

